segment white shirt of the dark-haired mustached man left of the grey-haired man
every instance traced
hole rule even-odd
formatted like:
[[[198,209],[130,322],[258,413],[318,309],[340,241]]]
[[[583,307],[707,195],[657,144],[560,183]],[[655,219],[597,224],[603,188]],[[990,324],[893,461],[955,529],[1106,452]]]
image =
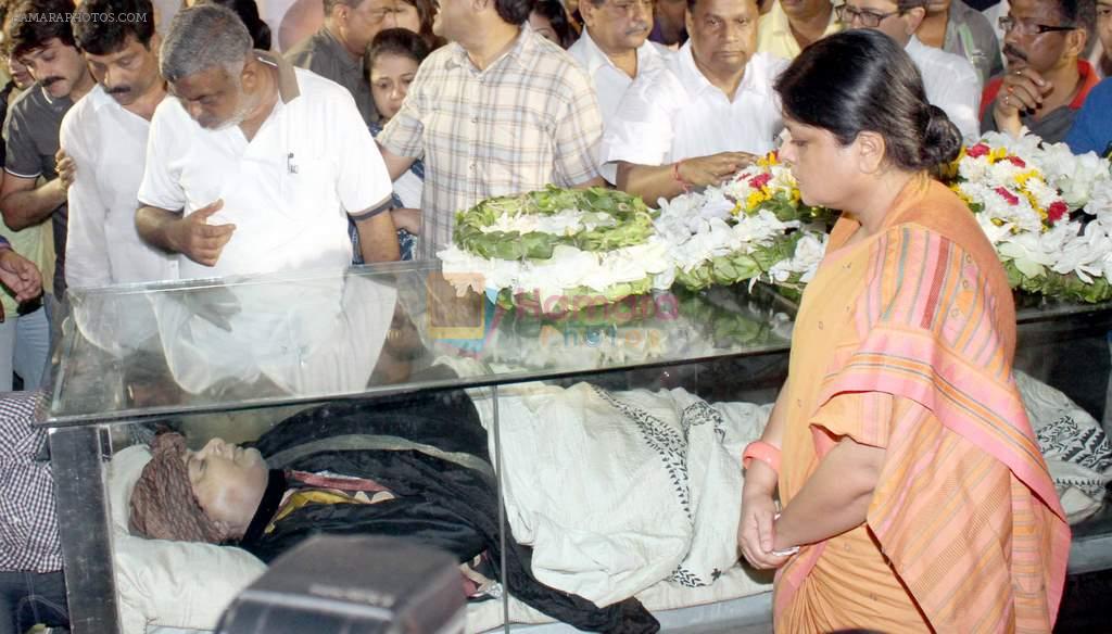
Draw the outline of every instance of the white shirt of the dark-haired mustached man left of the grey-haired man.
[[[77,162],[69,188],[66,284],[88,288],[169,276],[170,257],[136,230],[150,122],[98,83],[62,119],[61,147]]]

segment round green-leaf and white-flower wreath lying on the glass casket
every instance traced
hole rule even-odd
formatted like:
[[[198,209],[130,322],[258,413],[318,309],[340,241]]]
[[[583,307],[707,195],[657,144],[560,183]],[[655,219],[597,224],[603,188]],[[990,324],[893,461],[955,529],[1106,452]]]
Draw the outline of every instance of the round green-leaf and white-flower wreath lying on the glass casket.
[[[527,296],[575,310],[672,286],[653,212],[622,191],[548,186],[488,198],[456,215],[454,241],[437,254],[445,277],[481,279],[475,290],[503,307]]]

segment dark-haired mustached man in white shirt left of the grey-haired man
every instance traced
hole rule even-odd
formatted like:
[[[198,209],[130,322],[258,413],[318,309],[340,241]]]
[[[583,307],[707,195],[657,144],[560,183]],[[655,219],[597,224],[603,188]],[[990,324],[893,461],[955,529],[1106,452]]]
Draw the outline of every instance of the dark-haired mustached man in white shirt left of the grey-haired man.
[[[150,0],[86,0],[73,20],[97,86],[66,113],[61,147],[78,166],[69,188],[70,288],[166,279],[169,257],[136,231],[147,132],[166,97]],[[112,16],[111,20],[91,16]]]

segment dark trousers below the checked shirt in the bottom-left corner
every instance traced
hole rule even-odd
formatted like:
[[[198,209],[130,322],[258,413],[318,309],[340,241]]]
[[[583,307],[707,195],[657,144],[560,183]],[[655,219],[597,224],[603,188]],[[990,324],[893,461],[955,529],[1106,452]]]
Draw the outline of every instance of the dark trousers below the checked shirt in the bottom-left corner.
[[[61,572],[0,572],[0,634],[23,634],[38,623],[69,624],[66,577]]]

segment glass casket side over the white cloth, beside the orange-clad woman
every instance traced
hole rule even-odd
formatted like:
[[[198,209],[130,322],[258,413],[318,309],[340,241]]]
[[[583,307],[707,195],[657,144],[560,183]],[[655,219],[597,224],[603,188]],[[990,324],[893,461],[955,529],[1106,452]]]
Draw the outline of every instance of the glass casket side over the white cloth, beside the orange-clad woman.
[[[741,455],[786,364],[782,351],[498,386],[505,535],[532,548],[534,573],[508,577],[510,616],[524,604],[588,631],[653,617],[669,631],[665,607],[771,591],[771,573],[737,562]],[[707,611],[702,631],[741,628],[723,618]]]

